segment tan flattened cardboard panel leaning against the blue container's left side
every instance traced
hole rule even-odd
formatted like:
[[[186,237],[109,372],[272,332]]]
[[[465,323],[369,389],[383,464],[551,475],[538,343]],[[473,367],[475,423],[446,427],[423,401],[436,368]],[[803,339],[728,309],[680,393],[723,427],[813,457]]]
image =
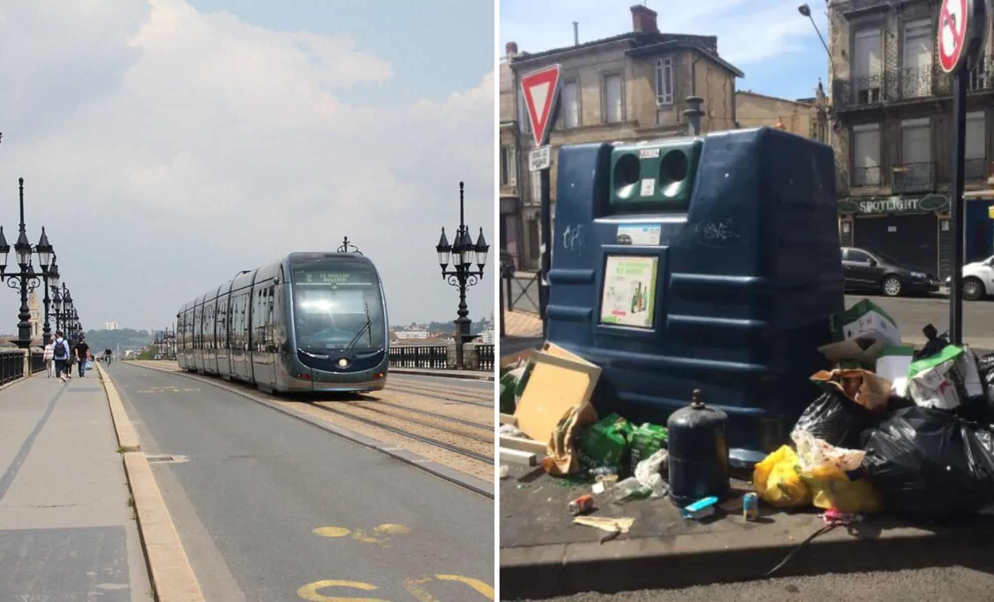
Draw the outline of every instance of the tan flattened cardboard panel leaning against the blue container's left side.
[[[600,368],[544,352],[536,352],[533,360],[535,368],[514,415],[529,438],[548,441],[570,408],[590,400]]]

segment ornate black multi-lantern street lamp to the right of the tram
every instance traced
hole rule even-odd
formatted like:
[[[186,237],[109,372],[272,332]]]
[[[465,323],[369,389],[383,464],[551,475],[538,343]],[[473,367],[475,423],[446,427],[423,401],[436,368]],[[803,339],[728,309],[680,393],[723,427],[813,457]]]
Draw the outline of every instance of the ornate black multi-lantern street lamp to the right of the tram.
[[[466,288],[473,286],[483,279],[483,266],[487,262],[487,250],[490,245],[483,238],[483,228],[480,228],[480,235],[473,244],[469,237],[469,228],[465,225],[463,211],[463,183],[459,183],[459,226],[455,229],[455,240],[448,243],[445,237],[445,228],[441,228],[441,237],[435,246],[438,253],[438,265],[441,266],[441,277],[447,280],[452,286],[459,287],[459,316],[455,320],[455,368],[462,369],[462,346],[471,341],[473,336],[469,334],[472,320],[467,318],[469,310],[466,307]],[[452,259],[452,270],[446,270],[449,262],[449,255]],[[472,264],[476,263],[478,269],[473,270]]]

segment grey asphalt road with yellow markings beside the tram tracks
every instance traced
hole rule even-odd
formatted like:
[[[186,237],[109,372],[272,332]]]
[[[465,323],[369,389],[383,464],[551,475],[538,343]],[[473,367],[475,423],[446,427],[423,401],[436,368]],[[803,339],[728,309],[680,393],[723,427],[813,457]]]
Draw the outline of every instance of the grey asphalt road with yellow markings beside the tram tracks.
[[[152,467],[208,600],[487,599],[491,500],[216,386],[108,373],[142,451],[185,456]]]

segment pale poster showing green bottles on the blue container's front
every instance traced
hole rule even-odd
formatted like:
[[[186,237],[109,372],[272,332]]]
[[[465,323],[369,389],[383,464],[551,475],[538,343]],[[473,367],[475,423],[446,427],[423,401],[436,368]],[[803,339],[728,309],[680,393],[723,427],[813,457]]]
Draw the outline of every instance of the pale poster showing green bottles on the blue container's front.
[[[600,323],[652,328],[658,269],[658,257],[608,255]]]

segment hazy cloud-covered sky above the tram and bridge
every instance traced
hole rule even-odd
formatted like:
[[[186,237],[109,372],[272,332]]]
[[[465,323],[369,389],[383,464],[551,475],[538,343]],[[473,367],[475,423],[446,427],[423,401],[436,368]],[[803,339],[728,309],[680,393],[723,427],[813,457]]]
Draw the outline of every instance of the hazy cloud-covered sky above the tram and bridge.
[[[164,328],[344,235],[392,324],[453,320],[434,245],[460,180],[474,241],[497,248],[494,49],[488,2],[2,3],[0,225],[13,244],[23,177],[28,237],[46,226],[85,329]],[[471,319],[493,311],[497,255]],[[0,294],[0,333],[19,305]]]

